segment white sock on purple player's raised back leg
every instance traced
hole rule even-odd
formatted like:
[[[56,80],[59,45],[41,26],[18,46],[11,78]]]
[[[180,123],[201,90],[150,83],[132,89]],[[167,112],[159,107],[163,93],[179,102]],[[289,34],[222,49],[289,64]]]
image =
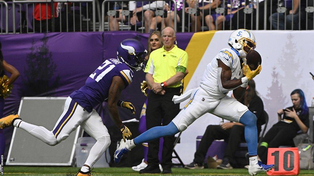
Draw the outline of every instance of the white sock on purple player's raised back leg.
[[[38,127],[36,125],[26,123],[17,119],[14,121],[14,127],[18,127],[30,133],[32,136],[40,139],[48,145],[54,146],[57,145],[57,139],[52,131],[47,130],[45,127]]]

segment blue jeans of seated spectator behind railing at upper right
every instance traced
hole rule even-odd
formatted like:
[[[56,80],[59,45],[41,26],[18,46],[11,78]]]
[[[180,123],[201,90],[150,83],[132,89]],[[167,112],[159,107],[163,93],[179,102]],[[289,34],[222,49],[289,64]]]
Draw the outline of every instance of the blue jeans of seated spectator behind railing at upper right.
[[[273,13],[269,17],[269,22],[271,21],[272,23],[272,29],[274,30],[284,30],[284,17],[286,17],[286,29],[291,30],[291,25],[292,25],[292,14],[288,14],[284,16],[284,13],[279,13],[279,18],[278,18],[278,13]],[[278,20],[279,19],[279,20]],[[279,28],[278,28],[278,21],[279,21]],[[293,30],[299,30],[299,13],[293,14]]]

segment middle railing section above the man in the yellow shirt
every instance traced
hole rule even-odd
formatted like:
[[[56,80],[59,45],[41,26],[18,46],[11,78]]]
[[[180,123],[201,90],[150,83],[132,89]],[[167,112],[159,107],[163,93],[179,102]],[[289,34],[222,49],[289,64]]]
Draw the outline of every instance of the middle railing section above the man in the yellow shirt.
[[[110,8],[110,2],[113,2],[113,8]],[[148,4],[145,4],[146,6],[148,5],[148,10],[147,12],[149,12],[148,15],[144,14],[147,12],[144,12],[144,9],[141,10],[141,12],[137,13],[134,12],[134,10],[137,9],[137,4],[140,2],[141,6],[144,6],[144,2],[149,2]],[[154,5],[152,4],[152,2],[156,2]],[[157,2],[160,2],[158,5]],[[107,3],[107,4],[106,4]],[[134,4],[135,3],[135,4]],[[125,6],[125,4],[128,5],[128,7]],[[107,5],[107,6],[106,6]],[[105,12],[105,6],[107,7],[107,12]],[[134,10],[131,9],[131,6],[133,6]],[[174,7],[173,11],[170,12],[170,8],[169,9],[165,9],[164,7],[168,6],[168,7]],[[177,18],[174,18],[177,16],[177,8],[176,8],[177,4],[175,0],[170,0],[168,1],[168,3],[166,1],[144,1],[144,0],[133,0],[133,1],[125,1],[125,0],[104,0],[102,5],[101,5],[101,27],[100,27],[100,31],[105,31],[105,29],[109,30],[117,30],[117,26],[120,30],[130,30],[132,28],[134,28],[135,31],[137,30],[141,30],[142,33],[144,32],[148,32],[147,27],[150,26],[151,23],[154,22],[155,24],[155,30],[157,29],[157,24],[158,24],[158,18],[162,18],[161,23],[164,22],[164,18],[169,18],[169,24],[171,23],[171,21],[173,20],[173,28],[176,30],[177,29]],[[121,7],[121,9],[120,9]],[[169,17],[168,17],[168,13],[169,13]],[[173,13],[173,18],[171,18],[171,13]],[[107,22],[105,23],[105,15],[107,14]],[[131,18],[132,17],[136,17],[138,18],[138,14],[140,14],[142,20],[137,23],[135,22],[134,24],[132,24],[131,22]],[[148,16],[148,19],[146,18]],[[151,18],[153,17],[153,18]],[[127,20],[126,20],[127,18]],[[114,23],[117,23],[117,25],[115,25],[114,23],[110,22],[110,19],[113,21]],[[119,20],[119,21],[118,21]],[[148,24],[144,24],[144,20],[145,23]],[[115,25],[114,27],[111,26]],[[133,26],[133,27],[132,27]],[[139,28],[138,28],[139,27]]]

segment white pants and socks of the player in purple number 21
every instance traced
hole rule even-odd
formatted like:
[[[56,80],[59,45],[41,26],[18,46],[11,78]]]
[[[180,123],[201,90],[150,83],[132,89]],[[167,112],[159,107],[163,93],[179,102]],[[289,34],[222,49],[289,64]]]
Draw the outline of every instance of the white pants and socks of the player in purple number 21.
[[[45,127],[39,127],[23,121],[19,124],[19,128],[27,131],[46,144],[54,146],[65,140],[79,125],[96,140],[85,163],[89,167],[92,167],[106,151],[111,142],[108,130],[95,109],[92,112],[87,112],[82,106],[72,100],[72,98],[68,97],[65,101],[64,111],[52,131],[47,130]]]

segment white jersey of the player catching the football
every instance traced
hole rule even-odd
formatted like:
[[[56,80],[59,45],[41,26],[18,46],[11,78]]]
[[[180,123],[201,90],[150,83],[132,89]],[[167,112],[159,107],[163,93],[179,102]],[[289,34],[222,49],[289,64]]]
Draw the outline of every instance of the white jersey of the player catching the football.
[[[230,48],[224,48],[214,57],[214,59],[207,65],[204,75],[201,80],[200,86],[211,96],[217,99],[221,99],[227,95],[229,91],[234,89],[228,89],[228,91],[221,93],[218,86],[218,61],[221,60],[225,65],[231,69],[231,80],[241,79],[243,72],[240,64],[240,57],[236,51]]]

